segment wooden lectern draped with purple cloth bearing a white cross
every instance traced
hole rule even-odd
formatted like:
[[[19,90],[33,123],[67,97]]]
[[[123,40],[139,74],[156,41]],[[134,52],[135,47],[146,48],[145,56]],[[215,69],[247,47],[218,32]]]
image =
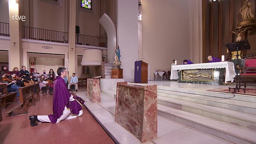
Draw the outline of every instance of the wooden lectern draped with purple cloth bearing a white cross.
[[[134,62],[134,82],[148,83],[148,63],[142,60]]]

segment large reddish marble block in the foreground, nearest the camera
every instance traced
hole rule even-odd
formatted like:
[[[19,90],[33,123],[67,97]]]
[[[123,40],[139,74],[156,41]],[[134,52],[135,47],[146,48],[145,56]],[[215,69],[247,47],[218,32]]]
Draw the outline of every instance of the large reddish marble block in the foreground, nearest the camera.
[[[157,138],[157,85],[117,83],[115,118],[141,142]]]

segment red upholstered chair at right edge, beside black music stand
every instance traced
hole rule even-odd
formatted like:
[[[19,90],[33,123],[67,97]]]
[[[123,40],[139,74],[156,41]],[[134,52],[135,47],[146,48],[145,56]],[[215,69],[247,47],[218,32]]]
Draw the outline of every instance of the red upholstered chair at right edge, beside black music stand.
[[[242,86],[241,82],[244,82],[244,88],[246,88],[246,80],[256,80],[256,59],[244,59],[245,67],[239,68],[239,88]]]

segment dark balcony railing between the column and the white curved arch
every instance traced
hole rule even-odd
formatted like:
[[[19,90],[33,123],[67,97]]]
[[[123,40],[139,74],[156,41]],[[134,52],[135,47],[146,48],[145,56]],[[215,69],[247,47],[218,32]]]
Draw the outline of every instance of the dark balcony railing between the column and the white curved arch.
[[[108,47],[108,38],[76,34],[76,44]]]

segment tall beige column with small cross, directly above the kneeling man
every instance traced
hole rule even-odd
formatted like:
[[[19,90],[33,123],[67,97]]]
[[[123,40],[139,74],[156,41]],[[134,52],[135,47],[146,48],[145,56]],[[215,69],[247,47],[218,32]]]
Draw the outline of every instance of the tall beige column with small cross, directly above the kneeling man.
[[[68,31],[68,60],[69,76],[76,72],[76,1],[69,2],[69,31]]]

